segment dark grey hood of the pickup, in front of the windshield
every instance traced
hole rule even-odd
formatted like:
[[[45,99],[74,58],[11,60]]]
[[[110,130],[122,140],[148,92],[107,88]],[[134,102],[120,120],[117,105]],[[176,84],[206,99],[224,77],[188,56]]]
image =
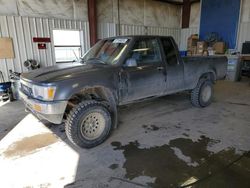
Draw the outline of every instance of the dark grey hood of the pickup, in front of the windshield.
[[[23,73],[21,78],[31,82],[51,83],[78,77],[86,72],[102,71],[107,67],[111,66],[102,64],[65,63]]]

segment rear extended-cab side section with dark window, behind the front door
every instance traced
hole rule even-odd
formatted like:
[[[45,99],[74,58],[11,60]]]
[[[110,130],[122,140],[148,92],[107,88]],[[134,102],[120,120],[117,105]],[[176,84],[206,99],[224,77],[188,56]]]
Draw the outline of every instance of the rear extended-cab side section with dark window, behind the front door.
[[[167,64],[167,85],[165,93],[174,93],[184,88],[183,62],[179,59],[177,45],[170,37],[161,38],[162,48]]]

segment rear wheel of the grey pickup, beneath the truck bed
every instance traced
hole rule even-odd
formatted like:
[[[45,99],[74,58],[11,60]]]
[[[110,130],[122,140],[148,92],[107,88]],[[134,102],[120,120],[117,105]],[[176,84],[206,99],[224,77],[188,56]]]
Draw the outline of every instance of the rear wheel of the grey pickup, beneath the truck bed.
[[[196,107],[206,107],[211,104],[212,97],[212,81],[201,79],[191,92],[191,103]]]

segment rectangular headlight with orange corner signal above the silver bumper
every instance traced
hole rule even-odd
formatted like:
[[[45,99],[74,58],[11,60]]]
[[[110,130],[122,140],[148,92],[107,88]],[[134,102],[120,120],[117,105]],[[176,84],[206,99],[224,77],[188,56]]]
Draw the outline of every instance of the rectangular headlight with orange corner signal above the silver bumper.
[[[45,101],[52,101],[56,93],[56,87],[34,85],[32,91],[34,98]]]

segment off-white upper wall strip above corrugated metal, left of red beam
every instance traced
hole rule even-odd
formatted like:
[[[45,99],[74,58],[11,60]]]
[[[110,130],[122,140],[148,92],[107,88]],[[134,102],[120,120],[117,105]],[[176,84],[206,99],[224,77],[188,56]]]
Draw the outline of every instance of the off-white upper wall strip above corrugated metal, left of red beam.
[[[0,0],[0,15],[88,20],[87,0]]]

